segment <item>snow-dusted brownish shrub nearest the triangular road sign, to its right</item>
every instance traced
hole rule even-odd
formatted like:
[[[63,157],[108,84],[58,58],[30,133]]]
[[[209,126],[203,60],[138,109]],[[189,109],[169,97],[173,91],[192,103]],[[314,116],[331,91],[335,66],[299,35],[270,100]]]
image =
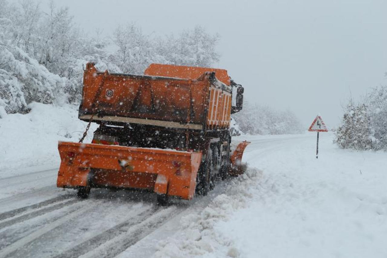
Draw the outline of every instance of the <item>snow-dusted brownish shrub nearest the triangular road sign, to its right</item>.
[[[370,115],[365,103],[356,104],[352,99],[345,107],[342,124],[336,130],[335,142],[346,149],[372,148]]]

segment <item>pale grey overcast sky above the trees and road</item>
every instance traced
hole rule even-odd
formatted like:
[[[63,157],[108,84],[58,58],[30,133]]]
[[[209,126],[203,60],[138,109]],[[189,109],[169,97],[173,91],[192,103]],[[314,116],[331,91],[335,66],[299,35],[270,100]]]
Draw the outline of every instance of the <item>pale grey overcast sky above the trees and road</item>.
[[[48,0],[41,0],[41,7]],[[109,34],[135,22],[146,34],[195,25],[218,32],[221,60],[250,102],[294,111],[305,126],[317,113],[336,126],[354,99],[387,84],[387,1],[66,0],[80,28]]]

